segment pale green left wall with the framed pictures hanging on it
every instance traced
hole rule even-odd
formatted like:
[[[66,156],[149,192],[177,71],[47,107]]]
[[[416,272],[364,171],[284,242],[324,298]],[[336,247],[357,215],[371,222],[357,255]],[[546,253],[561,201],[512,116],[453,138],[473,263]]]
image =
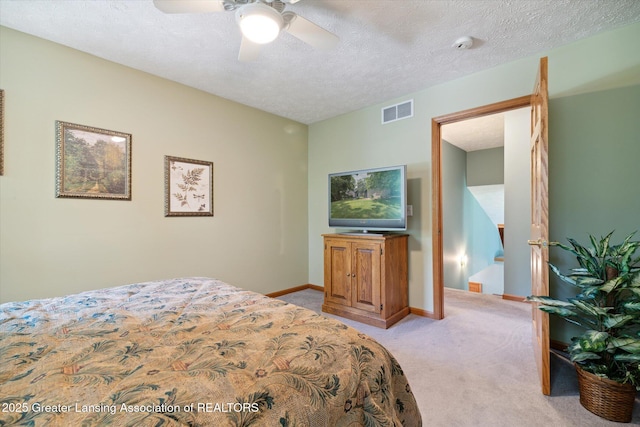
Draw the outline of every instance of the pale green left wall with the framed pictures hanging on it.
[[[307,282],[307,126],[7,28],[0,55],[0,301]],[[55,198],[56,120],[132,134],[131,201]],[[164,217],[165,155],[214,162],[214,217]]]

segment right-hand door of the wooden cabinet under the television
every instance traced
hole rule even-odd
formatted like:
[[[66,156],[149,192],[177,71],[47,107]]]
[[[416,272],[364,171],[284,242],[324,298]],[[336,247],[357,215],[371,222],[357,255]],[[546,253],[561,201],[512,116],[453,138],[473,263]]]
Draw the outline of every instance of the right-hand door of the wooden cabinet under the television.
[[[379,243],[354,242],[351,246],[351,306],[380,313]]]

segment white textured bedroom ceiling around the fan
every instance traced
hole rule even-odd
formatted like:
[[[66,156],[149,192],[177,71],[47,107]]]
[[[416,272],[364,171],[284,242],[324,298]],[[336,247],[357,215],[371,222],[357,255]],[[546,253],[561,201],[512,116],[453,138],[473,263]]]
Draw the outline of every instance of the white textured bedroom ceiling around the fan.
[[[337,48],[283,33],[238,62],[233,13],[168,15],[151,0],[0,0],[0,25],[310,124],[640,21],[638,0],[302,0],[287,10],[338,35]],[[455,50],[465,35],[473,48]]]

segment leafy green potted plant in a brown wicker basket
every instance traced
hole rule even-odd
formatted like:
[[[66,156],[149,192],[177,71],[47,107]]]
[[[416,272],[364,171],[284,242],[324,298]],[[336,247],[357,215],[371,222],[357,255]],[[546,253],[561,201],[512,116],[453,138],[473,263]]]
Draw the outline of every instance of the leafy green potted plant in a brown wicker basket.
[[[567,239],[571,246],[558,244],[577,257],[579,267],[563,274],[549,266],[576,288],[575,297],[528,300],[584,329],[567,348],[578,373],[580,403],[608,420],[630,422],[640,390],[640,257],[634,258],[640,241],[632,241],[631,233],[611,245],[612,234],[599,240],[589,236],[590,246],[573,239]]]

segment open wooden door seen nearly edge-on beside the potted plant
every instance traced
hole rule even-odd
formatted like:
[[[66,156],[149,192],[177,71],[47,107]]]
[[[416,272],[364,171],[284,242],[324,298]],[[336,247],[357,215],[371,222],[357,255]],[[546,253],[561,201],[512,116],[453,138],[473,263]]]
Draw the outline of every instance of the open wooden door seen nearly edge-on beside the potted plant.
[[[531,95],[531,294],[549,295],[549,193],[548,193],[548,90],[547,58],[540,59]],[[551,394],[549,368],[549,314],[532,304],[533,348],[542,393]]]

